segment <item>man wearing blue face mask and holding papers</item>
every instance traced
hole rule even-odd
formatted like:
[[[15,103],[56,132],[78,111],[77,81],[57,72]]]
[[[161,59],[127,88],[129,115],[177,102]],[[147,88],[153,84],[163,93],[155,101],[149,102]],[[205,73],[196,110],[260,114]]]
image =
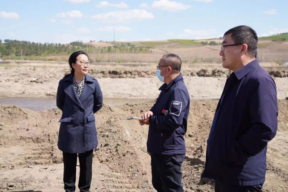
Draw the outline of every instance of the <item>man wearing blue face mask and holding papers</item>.
[[[142,115],[140,125],[149,125],[147,151],[151,155],[152,185],[158,191],[183,191],[181,165],[185,158],[190,98],[180,73],[181,59],[165,54],[157,66],[164,84],[154,106]]]

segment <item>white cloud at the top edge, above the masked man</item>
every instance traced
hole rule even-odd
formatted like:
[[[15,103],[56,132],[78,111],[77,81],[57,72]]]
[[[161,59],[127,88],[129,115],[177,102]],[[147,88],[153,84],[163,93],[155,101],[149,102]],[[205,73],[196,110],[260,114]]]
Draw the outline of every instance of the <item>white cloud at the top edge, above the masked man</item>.
[[[190,5],[184,5],[183,3],[178,3],[176,1],[160,0],[153,1],[152,7],[160,10],[166,10],[170,12],[177,12],[185,9],[189,9]]]

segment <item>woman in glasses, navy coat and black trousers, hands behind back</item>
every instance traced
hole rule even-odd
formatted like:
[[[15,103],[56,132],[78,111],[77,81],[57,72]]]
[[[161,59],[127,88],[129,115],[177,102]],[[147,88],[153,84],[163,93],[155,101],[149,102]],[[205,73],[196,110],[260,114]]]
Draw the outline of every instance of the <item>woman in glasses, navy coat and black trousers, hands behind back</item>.
[[[56,104],[62,110],[58,148],[63,152],[65,191],[75,191],[78,153],[78,187],[86,192],[92,180],[93,149],[98,145],[94,113],[102,108],[103,97],[98,81],[87,75],[91,63],[85,52],[72,53],[69,65],[71,73],[59,81],[57,90]]]

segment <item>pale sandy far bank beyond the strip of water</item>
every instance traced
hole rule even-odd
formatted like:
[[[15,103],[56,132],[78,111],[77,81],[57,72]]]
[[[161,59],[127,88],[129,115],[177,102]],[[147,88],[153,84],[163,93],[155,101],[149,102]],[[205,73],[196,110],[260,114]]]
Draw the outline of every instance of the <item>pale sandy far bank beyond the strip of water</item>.
[[[183,66],[182,74],[192,99],[219,99],[230,75],[229,70],[220,66]],[[69,70],[67,63],[26,63],[0,68],[0,97],[56,97],[58,82]],[[278,98],[288,97],[288,67],[266,68],[274,76]],[[106,65],[92,66],[89,75],[98,78],[105,98],[154,99],[158,97],[158,88],[162,85],[156,77],[155,64],[115,65],[110,69]]]

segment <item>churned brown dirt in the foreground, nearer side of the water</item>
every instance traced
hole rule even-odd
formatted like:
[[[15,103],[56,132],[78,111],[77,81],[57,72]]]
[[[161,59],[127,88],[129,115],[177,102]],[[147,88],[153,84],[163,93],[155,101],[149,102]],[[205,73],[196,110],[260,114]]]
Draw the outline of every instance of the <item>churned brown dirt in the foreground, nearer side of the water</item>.
[[[148,126],[120,120],[140,116],[153,103],[104,105],[96,113],[99,145],[93,157],[91,191],[154,191],[146,152]],[[213,191],[212,181],[200,181],[200,174],[216,105],[217,101],[191,102],[182,167],[185,191]],[[279,100],[278,106],[279,128],[268,148],[265,192],[288,191],[288,101]],[[0,191],[62,191],[62,154],[57,148],[60,116],[58,109],[35,112],[0,106]]]

